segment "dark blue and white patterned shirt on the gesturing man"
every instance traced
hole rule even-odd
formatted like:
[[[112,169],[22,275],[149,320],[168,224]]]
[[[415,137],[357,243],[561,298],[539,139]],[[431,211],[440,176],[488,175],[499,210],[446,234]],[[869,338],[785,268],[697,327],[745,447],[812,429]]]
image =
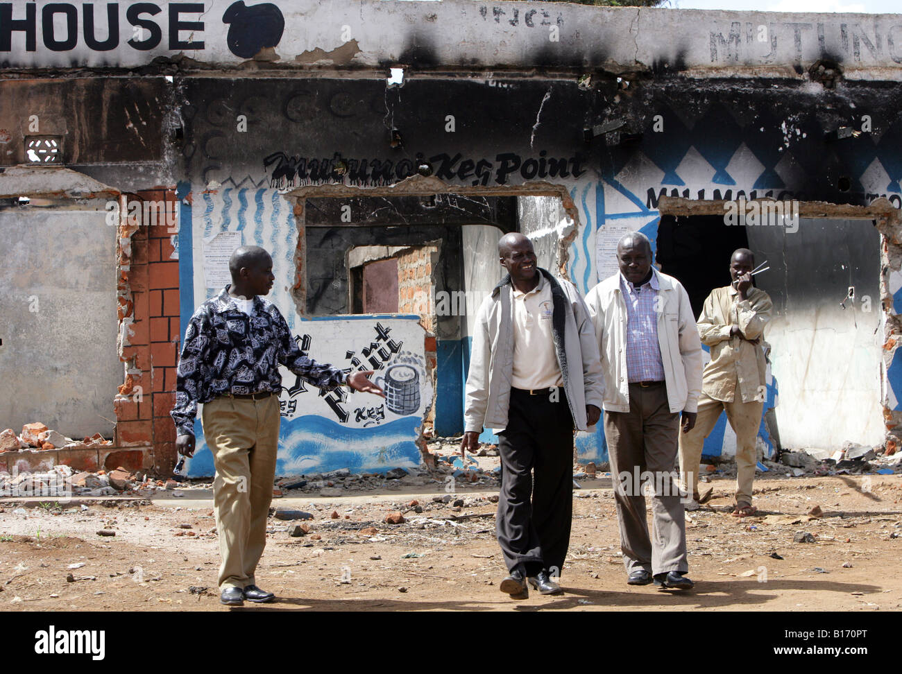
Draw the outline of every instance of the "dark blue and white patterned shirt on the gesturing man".
[[[344,370],[300,351],[276,305],[254,296],[253,311],[245,314],[228,294],[229,287],[198,306],[185,331],[170,412],[179,435],[194,434],[198,403],[229,393],[272,391],[278,396],[280,363],[319,388],[346,382]]]

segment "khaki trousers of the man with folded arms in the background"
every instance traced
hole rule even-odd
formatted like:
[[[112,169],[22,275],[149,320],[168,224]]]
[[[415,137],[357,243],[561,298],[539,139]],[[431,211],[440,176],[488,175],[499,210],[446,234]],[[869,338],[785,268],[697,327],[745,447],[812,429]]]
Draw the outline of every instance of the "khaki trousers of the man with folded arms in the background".
[[[679,436],[680,478],[686,492],[697,498],[698,466],[702,460],[704,439],[711,433],[724,410],[727,421],[736,433],[736,503],[751,505],[751,485],[755,479],[755,464],[758,462],[756,443],[764,402],[743,403],[738,386],[734,398],[732,403],[724,403],[704,393],[699,396],[695,428],[689,433],[680,433]]]

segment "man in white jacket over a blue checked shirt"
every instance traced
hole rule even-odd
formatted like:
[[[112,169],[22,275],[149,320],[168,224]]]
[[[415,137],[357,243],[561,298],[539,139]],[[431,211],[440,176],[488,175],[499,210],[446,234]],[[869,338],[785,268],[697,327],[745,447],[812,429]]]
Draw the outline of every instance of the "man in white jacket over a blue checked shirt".
[[[589,291],[604,373],[604,436],[615,481],[623,563],[630,585],[687,589],[686,524],[675,470],[680,413],[695,425],[702,344],[686,289],[651,265],[651,243],[630,232],[617,244],[620,272]],[[653,542],[643,484],[651,482]]]

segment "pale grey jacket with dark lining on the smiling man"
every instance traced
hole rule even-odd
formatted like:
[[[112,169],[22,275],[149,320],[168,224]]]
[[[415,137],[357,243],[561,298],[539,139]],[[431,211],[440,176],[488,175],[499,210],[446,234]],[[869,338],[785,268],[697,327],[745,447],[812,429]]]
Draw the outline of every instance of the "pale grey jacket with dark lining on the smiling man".
[[[589,312],[576,287],[564,278],[552,278],[538,269],[551,285],[554,302],[551,330],[557,364],[576,430],[587,430],[585,405],[602,407],[604,384]],[[470,370],[466,378],[464,423],[466,431],[507,428],[513,374],[513,319],[511,277],[507,276],[483,300],[476,315]]]

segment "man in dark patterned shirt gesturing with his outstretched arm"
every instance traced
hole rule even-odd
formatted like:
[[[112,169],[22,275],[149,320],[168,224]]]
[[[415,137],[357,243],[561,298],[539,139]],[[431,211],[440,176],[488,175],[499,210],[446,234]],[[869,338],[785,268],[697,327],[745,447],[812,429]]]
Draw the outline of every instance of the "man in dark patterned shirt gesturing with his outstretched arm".
[[[232,284],[191,316],[179,359],[175,407],[180,454],[194,454],[194,419],[213,452],[213,498],[219,536],[220,601],[241,606],[244,599],[272,601],[257,587],[254,571],[266,545],[266,518],[272,502],[278,449],[279,392],[284,365],[319,388],[346,385],[384,397],[368,377],[345,373],[304,355],[285,319],[262,299],[272,288],[270,254],[242,246],[229,260]]]

